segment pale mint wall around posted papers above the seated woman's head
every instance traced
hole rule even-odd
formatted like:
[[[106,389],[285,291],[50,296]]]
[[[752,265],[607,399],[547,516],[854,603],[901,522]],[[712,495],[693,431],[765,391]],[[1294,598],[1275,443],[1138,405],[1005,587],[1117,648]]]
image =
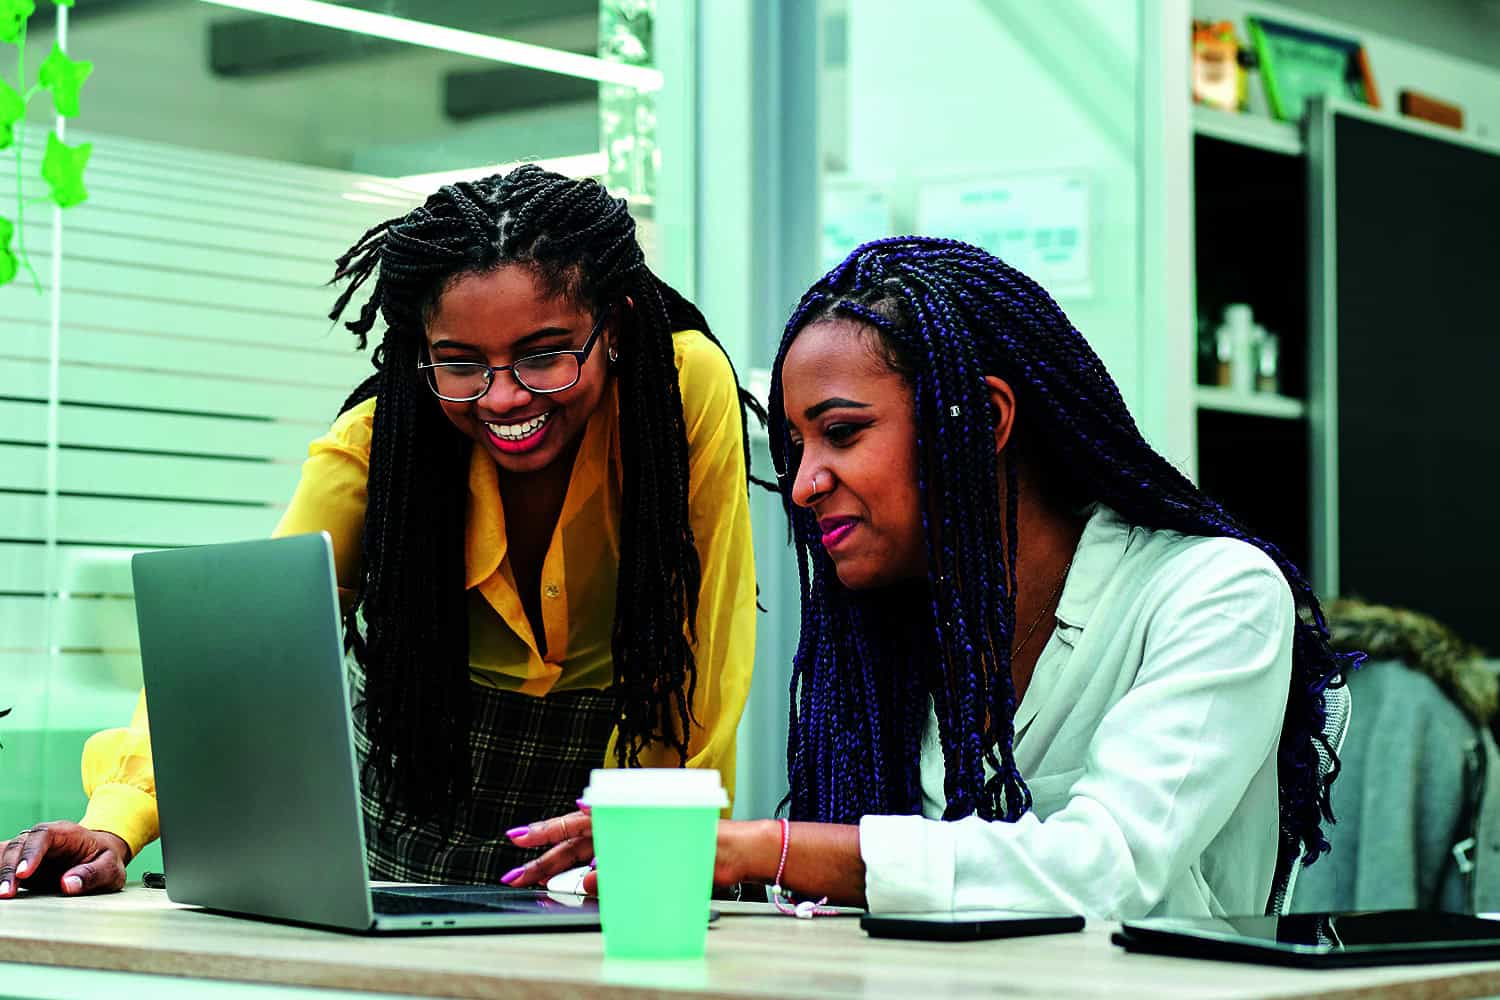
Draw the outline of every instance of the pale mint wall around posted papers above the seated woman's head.
[[[848,4],[850,177],[884,183],[894,229],[922,178],[1083,169],[1092,180],[1088,297],[1060,295],[1128,403],[1138,339],[1138,1],[904,0]],[[825,153],[825,162],[830,154]],[[942,234],[926,234],[942,235]]]

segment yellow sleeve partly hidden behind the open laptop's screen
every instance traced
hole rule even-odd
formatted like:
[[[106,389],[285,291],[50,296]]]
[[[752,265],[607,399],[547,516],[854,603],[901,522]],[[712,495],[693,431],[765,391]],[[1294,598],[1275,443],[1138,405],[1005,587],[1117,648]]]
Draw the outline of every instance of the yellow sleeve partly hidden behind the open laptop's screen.
[[[344,601],[354,597],[360,574],[374,414],[375,400],[360,403],[308,447],[297,492],[273,532],[297,535],[327,531],[333,537],[339,598]],[[128,727],[94,733],[84,744],[82,780],[84,795],[88,796],[84,826],[116,834],[130,846],[132,858],[156,840],[160,825],[144,691]]]

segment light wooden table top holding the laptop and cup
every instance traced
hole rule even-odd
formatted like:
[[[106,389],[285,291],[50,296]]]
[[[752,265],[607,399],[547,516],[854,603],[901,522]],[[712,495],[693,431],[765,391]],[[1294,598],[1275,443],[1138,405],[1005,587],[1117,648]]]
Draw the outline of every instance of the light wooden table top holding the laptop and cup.
[[[138,886],[88,900],[21,897],[0,904],[0,991],[9,993],[3,963],[24,963],[436,997],[1500,994],[1500,963],[1300,972],[1130,955],[1110,945],[1108,924],[945,945],[870,940],[856,919],[768,910],[724,906],[702,961],[628,963],[604,961],[598,934],[375,939],[202,913]]]

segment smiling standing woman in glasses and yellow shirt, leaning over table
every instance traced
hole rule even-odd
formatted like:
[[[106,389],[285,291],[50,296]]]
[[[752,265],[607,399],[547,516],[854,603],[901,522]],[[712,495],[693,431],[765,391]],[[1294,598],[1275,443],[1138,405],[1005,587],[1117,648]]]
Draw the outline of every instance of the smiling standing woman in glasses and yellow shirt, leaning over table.
[[[364,348],[384,319],[376,372],[276,534],[333,537],[370,876],[516,882],[536,850],[507,831],[570,813],[597,766],[717,768],[732,790],[750,397],[626,202],[534,165],[446,186],[334,280],[334,319],[374,280],[346,327]],[[0,847],[0,898],[123,885],[156,837],[144,706],[84,777],[82,823]],[[585,864],[578,832],[550,858]]]

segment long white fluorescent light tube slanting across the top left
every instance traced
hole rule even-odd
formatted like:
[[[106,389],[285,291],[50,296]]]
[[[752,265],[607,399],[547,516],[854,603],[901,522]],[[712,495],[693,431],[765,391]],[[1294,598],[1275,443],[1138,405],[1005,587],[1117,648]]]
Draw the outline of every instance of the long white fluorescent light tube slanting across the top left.
[[[321,0],[204,0],[204,3],[250,10],[254,13],[268,13],[291,21],[306,21],[308,24],[321,24],[358,34],[386,37],[393,42],[406,42],[446,52],[474,55],[476,58],[488,58],[496,63],[530,66],[531,69],[543,69],[550,73],[562,73],[564,76],[597,79],[603,84],[622,84],[636,90],[662,88],[660,69],[610,63],[597,55],[578,55],[576,52],[564,52],[562,49],[546,48],[544,45],[513,42],[492,34],[480,34],[478,31],[460,31],[459,28],[398,18],[388,13],[356,10],[336,3],[322,3]]]

